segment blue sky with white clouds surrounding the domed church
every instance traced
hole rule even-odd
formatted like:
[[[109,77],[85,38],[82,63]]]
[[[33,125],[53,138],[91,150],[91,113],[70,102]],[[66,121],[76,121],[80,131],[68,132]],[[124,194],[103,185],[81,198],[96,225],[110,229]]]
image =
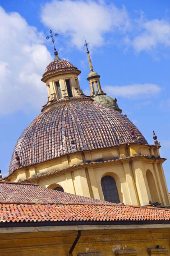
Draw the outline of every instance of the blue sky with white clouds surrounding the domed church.
[[[102,89],[153,144],[153,130],[170,191],[170,2],[168,0],[0,0],[0,169],[8,173],[12,151],[47,102],[41,81],[60,58],[81,70],[89,94],[84,37]]]

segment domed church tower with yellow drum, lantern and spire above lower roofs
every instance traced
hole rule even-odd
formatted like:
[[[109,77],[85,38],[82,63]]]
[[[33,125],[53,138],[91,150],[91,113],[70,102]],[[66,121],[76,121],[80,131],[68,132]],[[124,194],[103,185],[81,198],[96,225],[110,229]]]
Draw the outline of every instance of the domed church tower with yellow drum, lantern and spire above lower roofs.
[[[149,145],[103,92],[88,48],[90,96],[81,90],[80,70],[54,54],[42,77],[48,101],[19,137],[5,180],[114,203],[170,206],[156,135]]]

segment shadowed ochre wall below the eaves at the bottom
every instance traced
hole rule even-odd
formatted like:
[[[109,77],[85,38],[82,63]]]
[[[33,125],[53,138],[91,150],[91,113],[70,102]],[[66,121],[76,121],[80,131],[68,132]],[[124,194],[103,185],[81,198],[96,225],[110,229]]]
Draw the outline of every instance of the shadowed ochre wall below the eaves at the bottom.
[[[38,230],[35,228],[35,232],[0,234],[0,255],[69,255],[77,231],[40,232]],[[170,228],[82,230],[73,251],[73,256],[114,255],[168,256]]]

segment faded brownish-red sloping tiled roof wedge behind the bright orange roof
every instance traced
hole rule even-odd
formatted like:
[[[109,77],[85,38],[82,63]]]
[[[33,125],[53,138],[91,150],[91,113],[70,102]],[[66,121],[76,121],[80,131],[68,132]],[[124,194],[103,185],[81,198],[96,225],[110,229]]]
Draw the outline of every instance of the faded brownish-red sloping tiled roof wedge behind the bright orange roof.
[[[33,204],[104,204],[113,205],[98,199],[39,187],[37,184],[0,181],[0,203]]]

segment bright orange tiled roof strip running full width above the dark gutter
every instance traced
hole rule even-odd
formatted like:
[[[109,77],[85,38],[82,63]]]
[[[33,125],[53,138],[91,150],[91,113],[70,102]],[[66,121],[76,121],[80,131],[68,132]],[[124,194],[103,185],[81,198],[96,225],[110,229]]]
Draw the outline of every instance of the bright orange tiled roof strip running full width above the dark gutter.
[[[170,210],[116,205],[0,204],[0,222],[118,220],[169,222]]]

